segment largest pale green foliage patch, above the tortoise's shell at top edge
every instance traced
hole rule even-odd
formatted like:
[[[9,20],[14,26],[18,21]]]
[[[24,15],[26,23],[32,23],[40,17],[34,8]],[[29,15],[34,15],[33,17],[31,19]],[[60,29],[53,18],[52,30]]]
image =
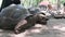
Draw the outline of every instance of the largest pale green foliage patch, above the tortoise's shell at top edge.
[[[39,2],[41,2],[42,0],[23,0],[22,1],[22,4],[25,7],[25,8],[28,8],[28,7],[37,7]]]

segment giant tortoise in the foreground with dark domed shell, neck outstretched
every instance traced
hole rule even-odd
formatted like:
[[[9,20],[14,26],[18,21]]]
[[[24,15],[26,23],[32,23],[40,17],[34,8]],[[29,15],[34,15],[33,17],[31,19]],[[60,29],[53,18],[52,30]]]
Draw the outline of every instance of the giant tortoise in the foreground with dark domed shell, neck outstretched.
[[[42,13],[31,15],[24,7],[20,4],[10,5],[4,8],[0,13],[0,28],[14,29],[16,34],[20,34],[32,27],[38,22],[42,23],[46,17],[40,16],[39,14]]]

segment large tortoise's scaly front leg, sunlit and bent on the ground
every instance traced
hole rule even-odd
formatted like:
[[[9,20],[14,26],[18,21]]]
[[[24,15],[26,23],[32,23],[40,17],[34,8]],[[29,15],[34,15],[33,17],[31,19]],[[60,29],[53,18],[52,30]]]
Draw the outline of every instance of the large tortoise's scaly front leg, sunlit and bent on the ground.
[[[25,28],[26,24],[27,24],[27,21],[26,20],[20,21],[18,24],[14,28],[15,34],[20,34],[21,32],[24,32],[24,28]]]

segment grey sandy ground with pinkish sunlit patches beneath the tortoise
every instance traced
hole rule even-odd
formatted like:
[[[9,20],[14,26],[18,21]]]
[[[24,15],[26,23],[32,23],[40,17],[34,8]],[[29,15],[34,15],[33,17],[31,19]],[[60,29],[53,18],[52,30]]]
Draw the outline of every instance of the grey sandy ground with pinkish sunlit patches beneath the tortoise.
[[[65,18],[51,18],[48,21],[48,25],[37,24],[36,27],[18,35],[0,29],[0,37],[65,37]]]

